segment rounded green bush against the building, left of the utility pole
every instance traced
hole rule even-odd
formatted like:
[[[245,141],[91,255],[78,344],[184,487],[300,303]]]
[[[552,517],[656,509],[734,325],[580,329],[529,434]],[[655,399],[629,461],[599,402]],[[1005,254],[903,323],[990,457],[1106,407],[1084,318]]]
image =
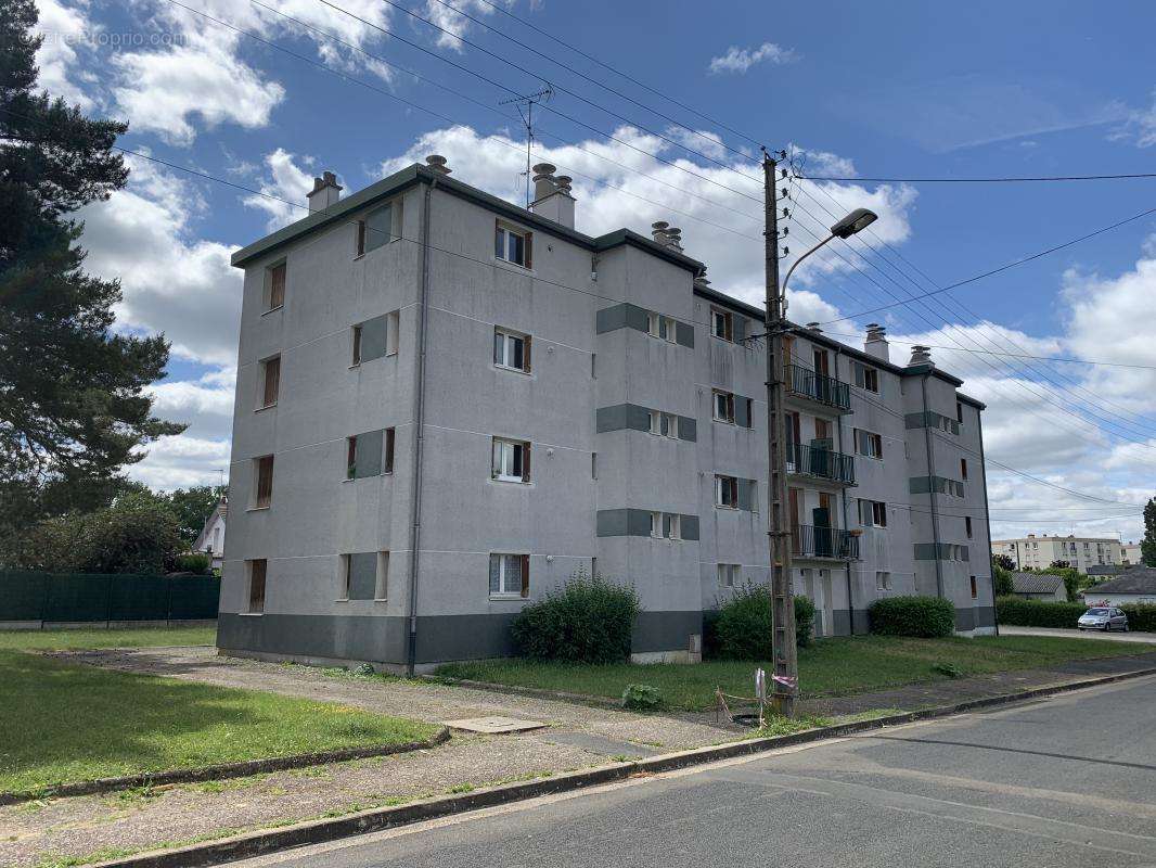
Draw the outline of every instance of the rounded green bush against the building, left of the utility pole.
[[[616,663],[630,656],[640,606],[633,588],[576,572],[513,620],[514,647],[525,657]]]

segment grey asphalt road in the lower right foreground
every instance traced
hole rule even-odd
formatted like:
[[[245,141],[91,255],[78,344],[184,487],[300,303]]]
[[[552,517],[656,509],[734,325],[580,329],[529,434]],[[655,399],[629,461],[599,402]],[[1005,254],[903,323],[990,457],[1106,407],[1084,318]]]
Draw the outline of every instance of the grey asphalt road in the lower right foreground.
[[[1156,677],[243,863],[1154,866]]]

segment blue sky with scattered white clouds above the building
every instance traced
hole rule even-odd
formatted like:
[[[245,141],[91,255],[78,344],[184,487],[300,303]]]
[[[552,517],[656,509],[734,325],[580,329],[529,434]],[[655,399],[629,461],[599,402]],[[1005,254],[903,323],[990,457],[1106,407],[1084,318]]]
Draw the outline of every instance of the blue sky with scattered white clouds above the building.
[[[800,266],[788,316],[851,344],[882,323],[892,361],[928,344],[965,380],[987,404],[993,537],[1142,534],[1134,505],[1156,488],[1156,213],[912,296],[1156,208],[1156,178],[922,181],[1156,171],[1148,2],[1096,15],[1058,0],[825,14],[677,0],[38,7],[39,87],[127,120],[121,146],[154,157],[127,157],[127,187],[81,214],[87,267],[121,280],[117,328],[172,344],[156,412],[188,428],[131,469],[154,487],[216,483],[229,465],[230,253],[303,216],[289,203],[303,206],[323,170],[348,194],[439,153],[454,177],[523,201],[525,130],[504,101],[549,87],[534,162],[575,178],[577,228],[668,220],[712,286],[746,301],[761,303],[763,285],[759,146],[803,176],[784,267],[846,211],[876,211],[868,233]]]

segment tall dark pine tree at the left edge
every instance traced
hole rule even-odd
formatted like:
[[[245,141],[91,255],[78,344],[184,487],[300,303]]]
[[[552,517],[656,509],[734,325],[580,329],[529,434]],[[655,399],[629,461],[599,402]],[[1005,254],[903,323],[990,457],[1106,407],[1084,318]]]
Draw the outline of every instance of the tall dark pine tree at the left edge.
[[[0,534],[99,506],[138,447],[184,426],[151,414],[163,336],[117,334],[120,284],[83,271],[77,208],[128,170],[126,124],[37,93],[32,0],[0,0]]]

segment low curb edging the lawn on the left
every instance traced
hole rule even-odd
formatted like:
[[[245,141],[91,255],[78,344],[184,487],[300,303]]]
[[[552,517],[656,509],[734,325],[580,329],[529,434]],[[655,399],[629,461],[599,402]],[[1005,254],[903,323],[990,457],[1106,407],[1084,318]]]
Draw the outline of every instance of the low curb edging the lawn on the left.
[[[126,774],[120,778],[96,778],[95,780],[61,784],[55,787],[24,793],[0,793],[0,806],[17,804],[34,799],[59,799],[66,796],[95,795],[112,793],[132,787],[150,787],[164,784],[199,784],[207,780],[227,780],[228,778],[246,778],[265,772],[282,772],[287,768],[304,768],[324,763],[344,763],[350,759],[368,757],[385,757],[391,753],[409,753],[415,750],[430,750],[450,741],[450,728],[440,730],[424,742],[402,742],[401,744],[379,744],[370,748],[344,748],[342,750],[320,751],[318,753],[296,753],[291,757],[271,757],[267,759],[246,759],[240,763],[221,763],[200,768],[178,768],[168,772],[144,772],[143,774]]]

